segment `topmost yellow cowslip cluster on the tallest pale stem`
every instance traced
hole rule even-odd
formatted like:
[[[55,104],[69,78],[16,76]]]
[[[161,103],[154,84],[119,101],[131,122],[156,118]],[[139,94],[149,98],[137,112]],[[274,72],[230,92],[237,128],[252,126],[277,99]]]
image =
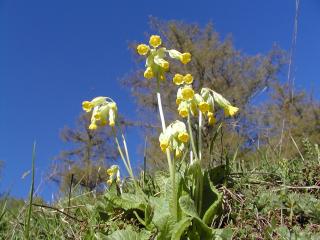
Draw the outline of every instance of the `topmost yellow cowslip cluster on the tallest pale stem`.
[[[139,55],[146,56],[146,70],[144,77],[146,79],[152,79],[158,77],[164,81],[165,72],[169,71],[170,64],[165,60],[167,53],[171,58],[180,60],[183,64],[187,64],[191,61],[190,53],[180,53],[177,50],[167,50],[164,47],[160,47],[162,40],[158,35],[152,35],[149,40],[149,45],[139,44],[137,46],[137,52]]]

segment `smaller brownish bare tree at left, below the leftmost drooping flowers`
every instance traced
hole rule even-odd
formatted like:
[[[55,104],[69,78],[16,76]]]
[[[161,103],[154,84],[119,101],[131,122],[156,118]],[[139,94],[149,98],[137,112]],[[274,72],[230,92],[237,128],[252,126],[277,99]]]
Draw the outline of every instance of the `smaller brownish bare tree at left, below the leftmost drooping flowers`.
[[[107,167],[118,157],[108,128],[89,130],[90,116],[83,114],[77,127],[66,127],[61,132],[64,142],[73,146],[62,151],[52,165],[50,178],[66,192],[70,184],[92,191],[99,190],[107,180]]]

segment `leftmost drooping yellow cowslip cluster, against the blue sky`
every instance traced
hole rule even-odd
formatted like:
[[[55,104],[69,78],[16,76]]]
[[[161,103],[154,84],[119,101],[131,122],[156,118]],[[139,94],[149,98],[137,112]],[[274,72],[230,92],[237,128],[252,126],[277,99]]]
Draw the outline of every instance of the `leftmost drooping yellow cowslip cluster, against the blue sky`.
[[[111,99],[96,97],[91,101],[82,102],[82,108],[88,113],[92,111],[91,123],[89,125],[90,130],[96,130],[98,126],[102,127],[107,125],[107,123],[111,127],[115,125],[118,110],[116,103]]]

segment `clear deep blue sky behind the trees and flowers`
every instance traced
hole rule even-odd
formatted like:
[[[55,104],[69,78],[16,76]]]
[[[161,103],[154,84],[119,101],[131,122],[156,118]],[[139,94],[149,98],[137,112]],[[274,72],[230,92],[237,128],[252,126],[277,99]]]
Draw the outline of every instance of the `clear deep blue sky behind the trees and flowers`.
[[[27,196],[30,176],[21,176],[30,169],[34,140],[39,184],[65,147],[59,131],[74,125],[82,100],[111,96],[134,118],[133,99],[118,79],[134,68],[128,43],[147,41],[148,16],[200,25],[211,20],[222,38],[231,33],[236,48],[257,54],[273,43],[290,48],[294,14],[294,0],[0,0],[0,159],[5,163],[0,192]],[[295,82],[316,95],[319,25],[320,2],[301,1]],[[135,134],[130,142],[135,153]],[[43,185],[39,193],[50,199],[54,190]]]

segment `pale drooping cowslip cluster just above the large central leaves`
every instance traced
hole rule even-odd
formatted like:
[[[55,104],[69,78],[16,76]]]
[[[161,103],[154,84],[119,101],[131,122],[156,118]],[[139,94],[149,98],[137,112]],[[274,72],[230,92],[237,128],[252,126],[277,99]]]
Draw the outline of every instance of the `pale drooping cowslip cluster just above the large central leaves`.
[[[181,121],[171,123],[159,136],[160,148],[163,152],[167,149],[174,151],[177,158],[181,157],[186,143],[189,142],[189,134],[186,125]]]

